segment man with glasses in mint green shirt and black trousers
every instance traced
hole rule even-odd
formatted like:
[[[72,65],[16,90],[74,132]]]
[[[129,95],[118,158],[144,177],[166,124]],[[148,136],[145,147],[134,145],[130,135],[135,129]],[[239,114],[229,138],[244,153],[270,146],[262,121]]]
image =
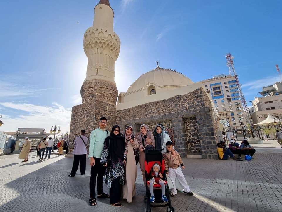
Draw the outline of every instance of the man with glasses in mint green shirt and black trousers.
[[[91,165],[90,176],[90,204],[95,206],[96,203],[96,178],[97,178],[97,198],[110,198],[108,194],[103,193],[103,176],[105,174],[106,167],[101,163],[101,154],[104,148],[105,139],[110,135],[110,132],[106,130],[107,119],[105,117],[100,118],[99,127],[93,130],[90,134],[89,141],[89,155]]]

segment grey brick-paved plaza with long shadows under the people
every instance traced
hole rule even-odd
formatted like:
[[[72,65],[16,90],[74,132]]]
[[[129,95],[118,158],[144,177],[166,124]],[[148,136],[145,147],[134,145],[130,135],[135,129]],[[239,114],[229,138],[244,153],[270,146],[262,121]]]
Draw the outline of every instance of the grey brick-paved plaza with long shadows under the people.
[[[256,150],[252,161],[184,159],[184,175],[195,195],[178,193],[172,198],[175,211],[282,211],[282,148],[271,143]],[[50,160],[39,162],[32,152],[29,161],[21,163],[17,157],[0,156],[0,212],[144,211],[139,165],[133,203],[121,201],[123,206],[115,208],[109,200],[97,199],[97,206],[91,207],[88,161],[85,176],[78,171],[70,178],[73,158],[55,152]]]

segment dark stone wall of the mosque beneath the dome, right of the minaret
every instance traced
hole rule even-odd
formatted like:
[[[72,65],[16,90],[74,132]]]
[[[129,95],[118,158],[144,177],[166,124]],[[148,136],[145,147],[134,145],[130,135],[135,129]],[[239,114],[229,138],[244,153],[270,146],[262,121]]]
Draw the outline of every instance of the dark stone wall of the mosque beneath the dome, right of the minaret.
[[[186,120],[196,117],[193,120],[195,127],[188,132],[195,141],[194,149],[189,150],[192,143],[188,144]],[[206,92],[199,88],[185,95],[178,95],[166,100],[150,102],[144,105],[117,111],[117,121],[113,124],[124,127],[132,125],[134,131],[139,132],[140,125],[147,123],[151,129],[156,123],[164,123],[174,130],[175,148],[182,157],[187,153],[202,154],[203,158],[217,159],[216,139],[214,137],[217,129],[217,122],[214,120],[213,108]],[[187,124],[189,121],[187,122]],[[197,125],[197,127],[196,127]],[[196,129],[198,131],[196,132]],[[151,129],[151,130],[153,130]],[[192,138],[192,137],[189,138]],[[197,137],[197,139],[196,139]],[[201,147],[201,151],[199,149]],[[189,146],[189,148],[188,148]]]

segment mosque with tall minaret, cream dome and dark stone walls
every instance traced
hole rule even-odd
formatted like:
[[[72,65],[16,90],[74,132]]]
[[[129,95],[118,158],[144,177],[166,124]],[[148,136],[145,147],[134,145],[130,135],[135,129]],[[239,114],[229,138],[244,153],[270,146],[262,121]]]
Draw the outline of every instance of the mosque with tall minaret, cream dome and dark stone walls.
[[[171,69],[157,67],[118,94],[115,61],[120,39],[113,31],[114,11],[109,0],[94,8],[93,26],[84,34],[83,47],[88,57],[86,78],[80,90],[82,104],[72,108],[70,141],[86,130],[98,127],[100,117],[108,118],[108,129],[131,125],[135,134],[140,125],[150,130],[162,123],[182,157],[217,159],[219,118],[202,82]],[[73,143],[70,142],[70,152]]]

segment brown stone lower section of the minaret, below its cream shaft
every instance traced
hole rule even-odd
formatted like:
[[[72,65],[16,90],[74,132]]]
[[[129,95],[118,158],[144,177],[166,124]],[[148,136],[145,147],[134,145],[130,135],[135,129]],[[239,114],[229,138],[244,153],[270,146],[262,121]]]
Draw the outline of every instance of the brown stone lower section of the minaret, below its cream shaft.
[[[108,119],[108,130],[111,130],[112,122],[116,119],[117,89],[113,83],[104,80],[88,80],[83,83],[80,92],[83,103],[72,108],[70,120],[70,153],[74,147],[73,139],[80,135],[81,130],[86,131],[85,136],[89,140],[91,131],[98,127],[101,117]]]

